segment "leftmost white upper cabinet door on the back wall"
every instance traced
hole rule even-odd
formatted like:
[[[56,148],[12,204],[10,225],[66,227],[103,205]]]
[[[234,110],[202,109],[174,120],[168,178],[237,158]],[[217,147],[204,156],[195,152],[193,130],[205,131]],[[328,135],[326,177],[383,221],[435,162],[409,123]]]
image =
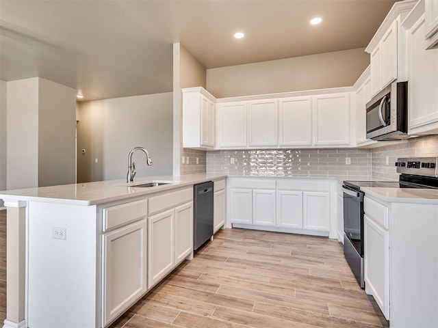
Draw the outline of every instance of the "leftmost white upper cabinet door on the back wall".
[[[221,104],[218,110],[218,140],[220,148],[248,146],[246,102]]]

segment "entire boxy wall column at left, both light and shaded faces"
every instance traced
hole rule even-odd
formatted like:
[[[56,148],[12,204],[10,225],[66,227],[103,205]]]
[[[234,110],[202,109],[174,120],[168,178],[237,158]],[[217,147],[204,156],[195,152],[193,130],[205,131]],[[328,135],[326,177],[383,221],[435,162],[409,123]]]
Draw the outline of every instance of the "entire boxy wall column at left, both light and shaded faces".
[[[74,89],[10,81],[7,117],[7,189],[75,183]]]

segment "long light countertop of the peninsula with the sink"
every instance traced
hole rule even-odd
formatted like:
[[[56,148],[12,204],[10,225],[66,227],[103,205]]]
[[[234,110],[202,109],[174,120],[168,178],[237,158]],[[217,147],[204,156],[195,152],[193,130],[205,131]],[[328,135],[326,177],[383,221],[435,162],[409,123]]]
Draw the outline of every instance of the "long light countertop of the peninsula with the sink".
[[[25,202],[34,201],[88,206],[148,195],[159,191],[168,191],[170,189],[185,187],[209,180],[219,180],[220,178],[226,177],[226,174],[189,174],[185,176],[140,177],[136,178],[135,181],[130,184],[127,184],[125,180],[64,184],[53,187],[0,191],[0,199],[3,199],[5,202],[20,200]],[[136,187],[136,184],[155,181],[170,183],[150,188]]]

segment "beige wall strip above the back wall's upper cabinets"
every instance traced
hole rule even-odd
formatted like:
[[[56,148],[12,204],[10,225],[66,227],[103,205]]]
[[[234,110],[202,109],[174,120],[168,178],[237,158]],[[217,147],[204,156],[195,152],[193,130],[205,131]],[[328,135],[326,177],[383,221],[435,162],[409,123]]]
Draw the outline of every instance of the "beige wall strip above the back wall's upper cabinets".
[[[370,64],[364,49],[351,49],[207,70],[216,98],[346,87]]]

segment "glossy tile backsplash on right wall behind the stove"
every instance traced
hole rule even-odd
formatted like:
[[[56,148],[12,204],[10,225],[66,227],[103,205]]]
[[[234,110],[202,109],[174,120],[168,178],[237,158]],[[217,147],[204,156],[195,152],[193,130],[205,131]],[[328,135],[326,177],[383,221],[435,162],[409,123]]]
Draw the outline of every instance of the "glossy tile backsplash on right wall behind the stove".
[[[389,164],[386,165],[386,156]],[[438,156],[438,137],[425,137],[372,149],[372,175],[398,180],[394,163],[398,157]]]

